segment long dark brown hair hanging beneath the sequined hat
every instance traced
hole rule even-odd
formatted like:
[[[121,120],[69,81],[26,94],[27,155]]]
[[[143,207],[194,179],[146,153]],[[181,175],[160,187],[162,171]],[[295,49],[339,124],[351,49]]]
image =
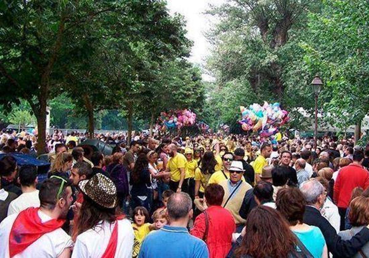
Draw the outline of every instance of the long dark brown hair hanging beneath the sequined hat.
[[[76,241],[79,234],[82,234],[89,229],[94,229],[101,220],[107,221],[111,224],[119,216],[124,216],[119,208],[104,208],[84,194],[82,206],[75,219],[72,240]]]

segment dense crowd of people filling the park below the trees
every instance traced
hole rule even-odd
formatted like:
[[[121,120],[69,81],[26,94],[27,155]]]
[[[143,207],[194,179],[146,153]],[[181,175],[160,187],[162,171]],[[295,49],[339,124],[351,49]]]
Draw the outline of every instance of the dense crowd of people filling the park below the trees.
[[[48,136],[4,130],[0,258],[369,257],[369,145],[325,136]]]

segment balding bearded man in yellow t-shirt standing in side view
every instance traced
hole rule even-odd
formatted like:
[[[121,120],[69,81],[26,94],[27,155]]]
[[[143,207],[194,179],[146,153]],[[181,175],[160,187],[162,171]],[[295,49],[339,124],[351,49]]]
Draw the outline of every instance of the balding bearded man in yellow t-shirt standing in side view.
[[[168,149],[170,158],[165,172],[170,172],[169,188],[174,192],[188,192],[188,178],[184,179],[186,176],[186,157],[177,152],[176,144],[169,144]]]

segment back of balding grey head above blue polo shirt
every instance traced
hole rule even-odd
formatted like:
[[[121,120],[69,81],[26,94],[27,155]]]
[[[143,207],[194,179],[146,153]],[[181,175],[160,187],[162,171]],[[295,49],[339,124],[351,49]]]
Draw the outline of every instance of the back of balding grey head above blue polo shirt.
[[[167,203],[168,215],[171,219],[177,220],[187,216],[192,209],[192,200],[187,193],[173,193]]]

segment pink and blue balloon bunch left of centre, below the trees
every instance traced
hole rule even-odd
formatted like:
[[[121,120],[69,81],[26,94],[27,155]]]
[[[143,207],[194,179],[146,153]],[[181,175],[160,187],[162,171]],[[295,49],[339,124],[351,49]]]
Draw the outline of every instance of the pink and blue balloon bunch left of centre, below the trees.
[[[196,114],[190,109],[170,110],[169,112],[161,112],[158,122],[163,124],[166,129],[181,129],[183,126],[194,125]]]

